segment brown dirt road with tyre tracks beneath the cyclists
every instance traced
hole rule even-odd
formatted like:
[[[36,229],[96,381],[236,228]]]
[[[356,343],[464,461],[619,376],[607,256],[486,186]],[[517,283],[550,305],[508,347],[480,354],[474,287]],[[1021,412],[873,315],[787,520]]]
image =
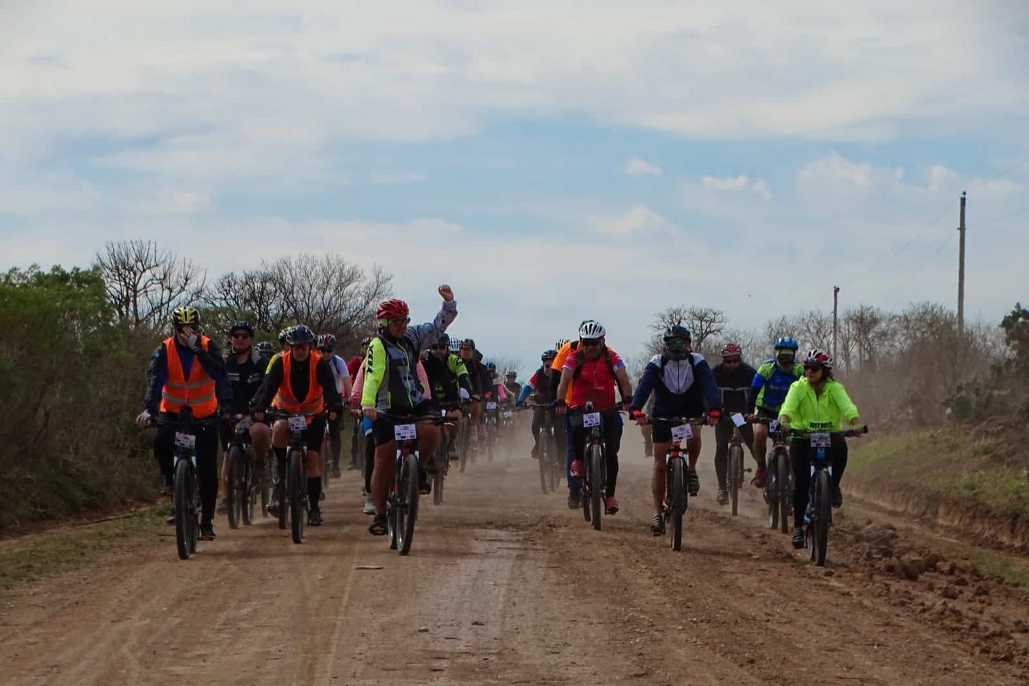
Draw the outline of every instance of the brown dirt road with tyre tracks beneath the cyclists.
[[[718,508],[710,471],[673,553],[647,532],[649,468],[638,434],[626,442],[624,509],[601,533],[563,494],[539,493],[528,457],[480,462],[449,480],[443,506],[423,501],[409,557],[366,533],[353,473],[299,546],[270,519],[223,525],[180,562],[169,532],[14,599],[0,618],[0,682],[1029,681],[1020,591],[973,572],[962,584],[961,569],[890,577],[861,562],[872,544],[856,523],[830,541],[827,572],[809,567],[764,528],[756,496],[735,519]]]

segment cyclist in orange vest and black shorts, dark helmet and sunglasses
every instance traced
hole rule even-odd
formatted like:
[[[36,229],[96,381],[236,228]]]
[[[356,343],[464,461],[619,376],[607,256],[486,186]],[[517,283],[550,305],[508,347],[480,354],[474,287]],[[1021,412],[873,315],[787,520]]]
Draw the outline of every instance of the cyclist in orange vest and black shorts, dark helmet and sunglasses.
[[[321,508],[321,443],[325,436],[325,410],[331,421],[343,412],[343,398],[335,390],[335,376],[328,360],[313,350],[316,338],[314,332],[303,324],[289,329],[286,345],[289,350],[272,360],[264,383],[250,401],[254,419],[264,419],[263,408],[273,398],[275,407],[281,412],[305,414],[308,428],[304,432],[304,442],[308,446],[308,523],[318,527],[322,523]],[[286,482],[286,449],[289,446],[289,423],[280,418],[272,427],[272,446],[278,458],[279,483]],[[273,496],[269,511],[282,506],[280,494]]]

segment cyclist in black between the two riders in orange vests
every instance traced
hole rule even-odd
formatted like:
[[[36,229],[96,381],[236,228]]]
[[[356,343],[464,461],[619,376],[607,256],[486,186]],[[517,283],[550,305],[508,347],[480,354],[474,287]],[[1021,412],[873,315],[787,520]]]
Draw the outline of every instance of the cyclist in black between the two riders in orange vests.
[[[236,322],[228,330],[228,337],[233,347],[232,354],[225,358],[225,372],[228,382],[233,385],[233,401],[228,411],[235,416],[250,413],[250,398],[254,397],[264,380],[264,370],[268,368],[265,360],[252,345],[254,337],[253,327],[249,322]],[[233,427],[228,422],[221,425],[222,449],[228,450],[228,443],[233,439]],[[250,443],[254,450],[254,474],[259,480],[264,471],[264,456],[272,445],[272,432],[267,424],[254,422],[250,425]],[[226,453],[227,457],[227,453]],[[221,484],[228,492],[227,479],[228,460],[221,462]],[[221,501],[218,511],[227,509],[224,500]]]

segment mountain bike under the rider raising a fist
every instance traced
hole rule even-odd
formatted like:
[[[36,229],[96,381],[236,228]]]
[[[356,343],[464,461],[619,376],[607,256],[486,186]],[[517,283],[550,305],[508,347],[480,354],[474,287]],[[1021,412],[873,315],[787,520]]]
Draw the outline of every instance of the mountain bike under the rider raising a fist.
[[[426,418],[382,411],[379,417],[394,423],[393,437],[396,439],[393,481],[386,499],[389,547],[405,555],[411,552],[418,519],[418,423]],[[436,421],[434,417],[431,419]]]

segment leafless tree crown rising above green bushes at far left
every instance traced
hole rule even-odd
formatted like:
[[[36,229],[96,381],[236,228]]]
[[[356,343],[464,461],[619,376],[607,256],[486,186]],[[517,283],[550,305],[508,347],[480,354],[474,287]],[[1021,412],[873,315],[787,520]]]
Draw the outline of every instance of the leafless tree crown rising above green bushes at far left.
[[[133,326],[166,321],[204,292],[207,272],[153,241],[104,244],[96,255],[118,319]]]

